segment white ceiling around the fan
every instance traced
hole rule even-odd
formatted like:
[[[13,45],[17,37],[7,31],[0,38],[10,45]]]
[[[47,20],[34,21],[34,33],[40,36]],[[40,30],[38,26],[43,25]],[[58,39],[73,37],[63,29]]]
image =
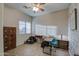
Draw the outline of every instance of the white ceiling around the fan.
[[[28,9],[24,8],[25,5],[28,7],[30,6],[32,7],[31,3],[7,3],[5,5],[16,8],[30,16],[40,16],[40,15],[44,15],[50,12],[56,12],[59,10],[67,9],[69,6],[69,3],[46,3],[44,5],[45,11],[39,12],[39,13],[34,13],[32,11],[32,8],[28,8]]]

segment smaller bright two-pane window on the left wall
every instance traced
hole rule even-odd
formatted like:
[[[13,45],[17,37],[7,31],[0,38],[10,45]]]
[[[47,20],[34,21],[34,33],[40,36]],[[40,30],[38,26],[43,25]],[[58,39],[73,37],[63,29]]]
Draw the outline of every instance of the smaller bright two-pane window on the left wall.
[[[31,33],[31,23],[25,21],[19,21],[19,33],[20,34],[30,34]]]

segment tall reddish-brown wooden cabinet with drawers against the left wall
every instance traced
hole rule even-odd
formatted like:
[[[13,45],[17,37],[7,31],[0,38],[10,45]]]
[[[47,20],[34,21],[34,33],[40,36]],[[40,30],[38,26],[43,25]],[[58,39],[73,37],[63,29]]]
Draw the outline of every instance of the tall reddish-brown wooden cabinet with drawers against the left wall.
[[[11,50],[16,47],[16,27],[4,27],[4,51]]]

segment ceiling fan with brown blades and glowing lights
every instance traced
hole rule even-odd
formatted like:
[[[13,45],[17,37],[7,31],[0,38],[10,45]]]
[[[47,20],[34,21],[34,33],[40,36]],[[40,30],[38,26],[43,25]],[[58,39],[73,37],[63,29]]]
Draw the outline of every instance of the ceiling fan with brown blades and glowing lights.
[[[34,13],[45,11],[45,9],[44,9],[45,3],[31,3],[31,5],[32,6],[30,6],[30,7],[25,5],[24,8],[26,8],[26,9],[32,8]]]

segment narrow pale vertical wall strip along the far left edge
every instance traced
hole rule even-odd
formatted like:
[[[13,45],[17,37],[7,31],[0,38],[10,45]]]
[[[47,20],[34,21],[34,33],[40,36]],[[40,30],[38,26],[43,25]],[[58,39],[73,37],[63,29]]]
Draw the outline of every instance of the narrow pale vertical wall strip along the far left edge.
[[[2,20],[3,4],[0,3],[0,56],[3,55],[3,20]]]

